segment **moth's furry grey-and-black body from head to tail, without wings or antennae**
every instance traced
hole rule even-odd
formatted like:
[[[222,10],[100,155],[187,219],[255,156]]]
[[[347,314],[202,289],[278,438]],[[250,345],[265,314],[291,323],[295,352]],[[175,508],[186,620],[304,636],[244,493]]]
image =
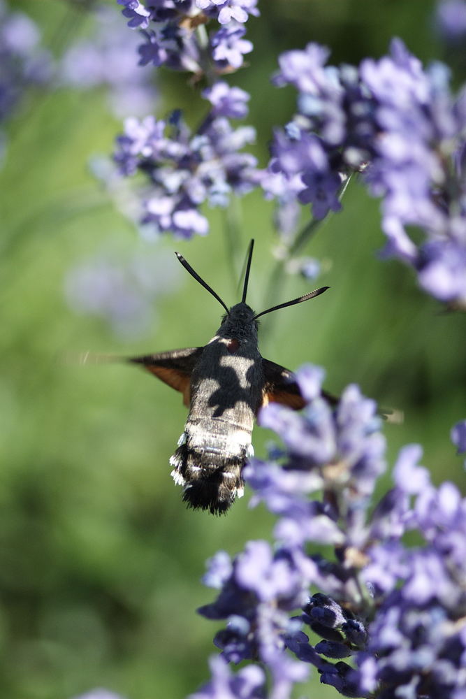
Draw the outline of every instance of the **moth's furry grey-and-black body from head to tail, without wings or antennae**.
[[[241,472],[252,453],[252,428],[263,400],[264,374],[257,322],[238,303],[205,345],[191,374],[184,438],[170,459],[183,500],[212,513],[241,497]]]

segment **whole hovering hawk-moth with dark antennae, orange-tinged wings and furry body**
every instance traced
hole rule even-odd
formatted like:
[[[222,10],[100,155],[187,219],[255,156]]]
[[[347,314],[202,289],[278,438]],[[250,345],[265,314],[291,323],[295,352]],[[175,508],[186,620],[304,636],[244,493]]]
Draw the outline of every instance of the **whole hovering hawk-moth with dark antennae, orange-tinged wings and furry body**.
[[[265,313],[302,303],[329,287],[279,303],[260,313],[246,303],[254,240],[249,245],[242,299],[228,308],[220,296],[176,252],[182,266],[225,309],[221,325],[204,347],[173,349],[126,361],[143,366],[183,396],[189,414],[171,475],[183,488],[189,507],[222,514],[243,494],[242,469],[252,448],[254,419],[276,401],[296,410],[304,401],[293,373],[264,359],[258,347],[258,319]]]

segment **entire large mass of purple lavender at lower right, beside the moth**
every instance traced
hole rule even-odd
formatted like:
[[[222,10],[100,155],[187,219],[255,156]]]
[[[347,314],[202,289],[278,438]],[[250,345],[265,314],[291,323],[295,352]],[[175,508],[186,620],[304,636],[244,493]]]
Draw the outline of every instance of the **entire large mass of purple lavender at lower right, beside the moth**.
[[[344,696],[463,697],[466,500],[453,484],[435,488],[418,463],[421,448],[409,445],[393,489],[373,507],[385,469],[373,401],[350,386],[331,408],[322,370],[305,367],[297,380],[303,415],[270,405],[260,417],[282,438],[282,458],[252,459],[244,474],[253,504],[278,517],[275,545],[253,541],[233,561],[212,559],[206,582],[219,595],[199,611],[227,621],[214,643],[231,662],[260,661],[270,673],[267,696],[288,698],[305,677],[300,669],[312,665]],[[453,429],[462,446],[463,431],[463,423]],[[407,545],[410,531],[423,543]],[[334,555],[310,552],[310,541]],[[311,585],[319,590],[312,595]]]

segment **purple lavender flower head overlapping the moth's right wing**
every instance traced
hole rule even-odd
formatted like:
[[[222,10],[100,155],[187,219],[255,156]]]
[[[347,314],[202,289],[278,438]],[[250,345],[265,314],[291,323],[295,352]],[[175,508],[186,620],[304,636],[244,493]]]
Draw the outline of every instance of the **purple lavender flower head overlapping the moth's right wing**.
[[[303,415],[274,403],[259,415],[260,424],[284,441],[289,461],[286,470],[280,470],[274,463],[251,460],[244,476],[256,491],[252,503],[263,500],[279,516],[275,536],[289,546],[319,541],[361,547],[368,536],[361,503],[385,469],[385,440],[376,406],[350,386],[332,410],[320,395],[323,372],[316,367],[298,371],[296,380],[310,401]],[[307,500],[326,487],[351,492],[343,529],[335,507]]]

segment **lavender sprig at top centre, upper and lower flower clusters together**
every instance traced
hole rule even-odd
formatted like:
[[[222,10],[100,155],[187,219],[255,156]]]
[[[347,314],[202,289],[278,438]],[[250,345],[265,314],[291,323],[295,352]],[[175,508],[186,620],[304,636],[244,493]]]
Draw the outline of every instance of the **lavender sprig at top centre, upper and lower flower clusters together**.
[[[145,8],[138,0],[118,0],[129,26],[143,30],[140,64],[190,71],[207,79],[203,97],[212,108],[191,133],[179,112],[168,123],[146,117],[126,121],[117,138],[115,160],[124,175],[143,172],[143,224],[177,237],[205,235],[201,204],[225,207],[232,193],[242,195],[259,184],[256,159],[241,152],[255,139],[252,127],[233,129],[232,118],[247,115],[249,95],[219,79],[242,66],[252,50],[244,22],[258,15],[256,0],[159,0]],[[205,25],[214,22],[210,34]]]

